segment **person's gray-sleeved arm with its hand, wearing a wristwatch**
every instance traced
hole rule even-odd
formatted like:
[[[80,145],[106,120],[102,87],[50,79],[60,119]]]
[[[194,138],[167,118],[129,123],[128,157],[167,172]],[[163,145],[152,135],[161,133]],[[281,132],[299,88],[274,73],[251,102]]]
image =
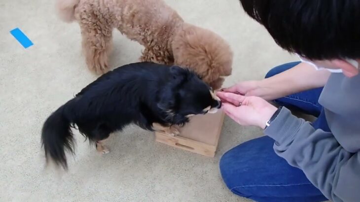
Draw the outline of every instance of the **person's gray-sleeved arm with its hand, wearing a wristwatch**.
[[[359,202],[360,152],[346,151],[331,133],[315,130],[285,107],[277,113],[275,106],[259,97],[226,92],[216,95],[222,101],[221,108],[234,121],[265,129],[265,135],[275,140],[275,152],[303,170],[325,197],[334,202]],[[266,127],[268,120],[271,122]]]

